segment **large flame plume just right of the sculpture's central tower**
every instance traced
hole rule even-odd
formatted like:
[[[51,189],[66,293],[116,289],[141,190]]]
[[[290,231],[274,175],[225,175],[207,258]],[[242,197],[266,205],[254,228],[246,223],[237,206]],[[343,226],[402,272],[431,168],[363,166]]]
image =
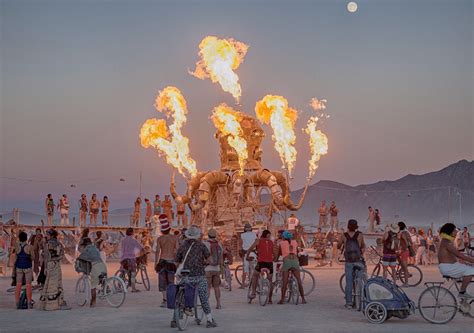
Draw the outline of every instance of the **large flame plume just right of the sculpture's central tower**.
[[[272,139],[275,142],[275,149],[280,155],[283,165],[288,169],[289,174],[296,162],[296,142],[295,123],[298,113],[288,106],[288,101],[282,96],[266,95],[255,105],[257,118],[269,124],[273,129]]]

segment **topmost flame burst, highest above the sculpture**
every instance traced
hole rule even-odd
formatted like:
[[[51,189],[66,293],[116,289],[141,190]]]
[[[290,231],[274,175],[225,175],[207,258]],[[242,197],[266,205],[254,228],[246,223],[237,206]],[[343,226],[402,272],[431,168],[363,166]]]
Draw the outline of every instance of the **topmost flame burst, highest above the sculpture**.
[[[222,89],[234,96],[238,102],[242,95],[239,77],[235,70],[244,61],[248,45],[233,38],[219,39],[207,36],[199,44],[199,56],[196,69],[190,74],[204,80],[219,82]]]

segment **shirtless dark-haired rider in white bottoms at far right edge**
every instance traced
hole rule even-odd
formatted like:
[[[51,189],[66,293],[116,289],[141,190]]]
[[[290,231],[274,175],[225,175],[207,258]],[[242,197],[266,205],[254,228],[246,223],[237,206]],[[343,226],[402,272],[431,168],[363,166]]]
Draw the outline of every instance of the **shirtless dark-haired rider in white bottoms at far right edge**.
[[[468,294],[466,289],[474,276],[474,267],[461,264],[458,262],[458,259],[474,263],[474,258],[462,254],[454,247],[453,242],[458,232],[458,229],[452,223],[444,224],[439,230],[441,243],[438,250],[438,268],[443,276],[462,279],[461,288],[459,289],[460,298],[473,299],[474,295]]]

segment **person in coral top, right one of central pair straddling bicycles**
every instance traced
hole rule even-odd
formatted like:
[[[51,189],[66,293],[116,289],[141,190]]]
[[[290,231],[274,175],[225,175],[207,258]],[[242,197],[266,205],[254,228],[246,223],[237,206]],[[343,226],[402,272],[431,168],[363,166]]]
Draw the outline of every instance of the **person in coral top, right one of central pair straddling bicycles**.
[[[306,299],[304,297],[303,283],[300,276],[300,263],[298,260],[298,243],[293,239],[293,234],[288,230],[285,230],[282,234],[283,240],[279,242],[277,254],[275,257],[280,255],[283,257],[283,266],[281,267],[282,271],[282,287],[281,287],[281,299],[278,304],[283,304],[286,289],[288,287],[288,279],[290,276],[290,271],[293,273],[293,276],[298,282],[298,290],[301,295],[301,303],[306,304]]]

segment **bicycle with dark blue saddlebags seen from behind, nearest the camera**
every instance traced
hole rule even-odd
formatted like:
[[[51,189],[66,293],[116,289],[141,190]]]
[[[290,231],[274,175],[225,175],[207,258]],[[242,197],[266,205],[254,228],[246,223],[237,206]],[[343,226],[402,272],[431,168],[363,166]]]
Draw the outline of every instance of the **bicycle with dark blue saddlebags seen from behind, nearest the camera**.
[[[176,326],[180,331],[184,331],[189,324],[189,319],[194,317],[197,325],[201,325],[204,319],[204,311],[202,309],[201,301],[198,296],[197,285],[189,282],[189,270],[181,271],[181,278],[176,285],[176,299],[173,313],[173,320],[176,321]],[[185,290],[186,286],[194,288],[194,303],[192,307],[186,306]]]

